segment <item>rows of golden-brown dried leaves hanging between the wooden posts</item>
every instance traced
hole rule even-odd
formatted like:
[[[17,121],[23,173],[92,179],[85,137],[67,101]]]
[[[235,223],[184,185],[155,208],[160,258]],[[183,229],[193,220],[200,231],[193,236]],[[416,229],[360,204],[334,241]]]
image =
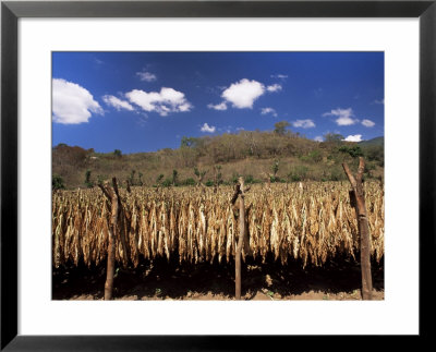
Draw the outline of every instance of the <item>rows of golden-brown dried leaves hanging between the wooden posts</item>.
[[[171,180],[170,180],[171,181]],[[371,254],[384,255],[384,190],[365,182]],[[116,259],[124,267],[140,258],[175,256],[180,262],[232,260],[239,236],[233,187],[132,187],[120,190]],[[323,265],[336,255],[353,257],[360,247],[348,182],[254,184],[245,194],[246,256],[282,264]],[[53,265],[105,260],[111,211],[101,190],[63,191],[52,196]]]

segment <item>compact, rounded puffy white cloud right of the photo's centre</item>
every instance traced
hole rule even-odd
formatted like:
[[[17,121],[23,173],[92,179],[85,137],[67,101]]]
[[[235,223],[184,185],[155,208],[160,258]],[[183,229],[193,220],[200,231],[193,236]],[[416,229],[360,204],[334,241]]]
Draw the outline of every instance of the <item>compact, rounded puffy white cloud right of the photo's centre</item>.
[[[253,108],[254,101],[265,93],[265,86],[257,81],[241,80],[232,83],[221,97],[230,101],[238,109]]]

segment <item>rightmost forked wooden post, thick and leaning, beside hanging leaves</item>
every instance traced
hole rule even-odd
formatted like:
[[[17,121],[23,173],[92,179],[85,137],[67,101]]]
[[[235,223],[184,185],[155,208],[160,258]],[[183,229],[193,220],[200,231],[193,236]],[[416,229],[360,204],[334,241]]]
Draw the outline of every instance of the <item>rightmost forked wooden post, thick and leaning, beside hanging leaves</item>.
[[[371,275],[371,252],[370,252],[370,227],[367,221],[365,193],[363,191],[363,171],[365,170],[365,161],[359,158],[359,169],[355,178],[351,173],[348,165],[342,163],[343,170],[351,183],[350,203],[355,209],[359,223],[359,234],[361,238],[361,270],[362,270],[362,299],[372,300],[373,279]]]

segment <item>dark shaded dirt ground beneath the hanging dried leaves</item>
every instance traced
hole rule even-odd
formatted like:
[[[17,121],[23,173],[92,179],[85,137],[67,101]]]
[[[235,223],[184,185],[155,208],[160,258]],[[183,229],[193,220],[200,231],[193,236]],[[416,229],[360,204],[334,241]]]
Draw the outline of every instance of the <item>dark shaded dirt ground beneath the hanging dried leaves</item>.
[[[384,264],[372,263],[373,300],[384,300]],[[102,300],[105,263],[52,272],[53,300]],[[353,258],[323,267],[249,259],[242,265],[243,300],[362,300],[360,265]],[[234,300],[234,264],[180,265],[177,259],[144,260],[137,268],[117,267],[114,300]]]

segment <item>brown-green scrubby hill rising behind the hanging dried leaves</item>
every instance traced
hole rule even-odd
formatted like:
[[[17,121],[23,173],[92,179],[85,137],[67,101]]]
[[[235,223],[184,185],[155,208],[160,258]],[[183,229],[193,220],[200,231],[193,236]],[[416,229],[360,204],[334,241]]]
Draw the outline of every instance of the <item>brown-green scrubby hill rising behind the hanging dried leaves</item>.
[[[247,183],[338,181],[347,180],[341,163],[356,167],[359,156],[365,157],[367,178],[382,177],[383,153],[383,146],[342,142],[337,135],[319,143],[289,131],[240,131],[183,137],[177,149],[130,155],[59,144],[52,148],[52,173],[53,186],[66,189],[93,186],[112,177],[148,186],[231,184],[239,175]]]

